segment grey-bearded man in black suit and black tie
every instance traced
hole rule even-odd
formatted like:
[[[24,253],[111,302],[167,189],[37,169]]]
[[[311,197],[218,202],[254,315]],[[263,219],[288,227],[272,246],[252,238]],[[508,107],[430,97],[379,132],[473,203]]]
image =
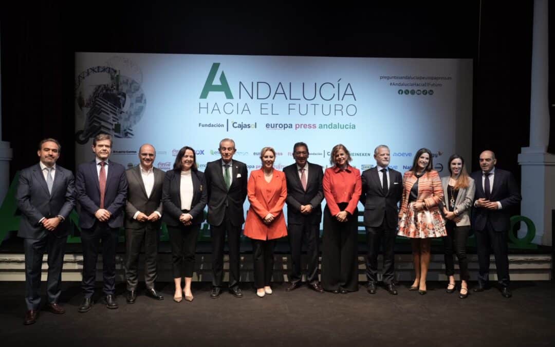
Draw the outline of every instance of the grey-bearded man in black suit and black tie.
[[[403,178],[400,172],[388,168],[390,151],[386,145],[374,149],[376,166],[365,170],[362,175],[360,202],[364,205],[364,226],[368,243],[366,258],[367,291],[376,294],[378,253],[380,245],[384,250],[385,289],[397,295],[395,278],[395,237],[397,235],[397,204],[403,193]]]

